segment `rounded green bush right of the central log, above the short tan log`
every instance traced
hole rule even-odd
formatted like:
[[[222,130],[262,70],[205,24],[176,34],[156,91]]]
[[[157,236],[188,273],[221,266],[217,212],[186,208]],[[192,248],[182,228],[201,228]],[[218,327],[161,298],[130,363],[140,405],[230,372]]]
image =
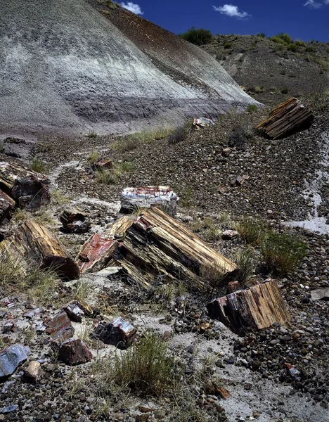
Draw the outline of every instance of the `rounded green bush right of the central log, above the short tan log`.
[[[263,236],[260,246],[266,268],[281,275],[295,269],[304,259],[307,249],[307,245],[294,236],[278,234],[274,230]]]

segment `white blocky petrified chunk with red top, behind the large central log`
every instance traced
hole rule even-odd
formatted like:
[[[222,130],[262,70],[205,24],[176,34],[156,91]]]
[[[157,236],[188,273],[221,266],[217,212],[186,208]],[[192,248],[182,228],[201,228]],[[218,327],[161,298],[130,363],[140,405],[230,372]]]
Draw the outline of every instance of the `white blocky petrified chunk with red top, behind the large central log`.
[[[138,208],[149,208],[155,205],[174,217],[177,212],[178,200],[178,196],[169,186],[125,188],[121,193],[120,212],[131,213]]]

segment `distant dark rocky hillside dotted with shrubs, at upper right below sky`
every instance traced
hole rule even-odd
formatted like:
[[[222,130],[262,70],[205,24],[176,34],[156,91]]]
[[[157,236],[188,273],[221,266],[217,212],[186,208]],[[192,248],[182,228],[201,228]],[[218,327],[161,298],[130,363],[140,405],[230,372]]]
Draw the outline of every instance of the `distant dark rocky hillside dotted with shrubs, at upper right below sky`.
[[[328,43],[283,44],[274,39],[217,35],[201,48],[263,103],[279,103],[288,96],[314,95],[328,89]]]

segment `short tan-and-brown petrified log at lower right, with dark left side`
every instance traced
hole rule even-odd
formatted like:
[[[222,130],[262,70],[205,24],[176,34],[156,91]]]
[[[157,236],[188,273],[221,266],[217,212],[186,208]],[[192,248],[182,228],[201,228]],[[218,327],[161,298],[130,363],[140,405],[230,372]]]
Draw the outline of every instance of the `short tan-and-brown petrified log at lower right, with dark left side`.
[[[207,309],[212,319],[219,319],[234,333],[290,321],[290,314],[274,280],[213,300]]]

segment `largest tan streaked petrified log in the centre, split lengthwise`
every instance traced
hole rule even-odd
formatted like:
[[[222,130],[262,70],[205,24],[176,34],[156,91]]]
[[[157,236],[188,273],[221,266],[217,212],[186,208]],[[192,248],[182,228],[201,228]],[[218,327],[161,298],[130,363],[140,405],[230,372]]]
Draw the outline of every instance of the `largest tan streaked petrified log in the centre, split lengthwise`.
[[[120,265],[131,279],[149,287],[155,279],[184,279],[205,288],[205,271],[233,279],[236,264],[157,207],[145,210],[126,231],[109,265]],[[207,287],[207,286],[206,286]]]

